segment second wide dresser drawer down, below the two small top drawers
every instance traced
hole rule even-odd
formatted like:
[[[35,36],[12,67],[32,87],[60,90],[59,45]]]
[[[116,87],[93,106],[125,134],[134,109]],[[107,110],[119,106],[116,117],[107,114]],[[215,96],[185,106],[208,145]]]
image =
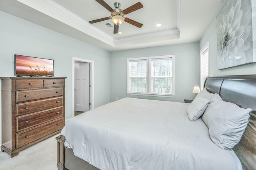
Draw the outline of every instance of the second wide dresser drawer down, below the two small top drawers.
[[[63,97],[16,104],[16,116],[35,113],[63,105]]]

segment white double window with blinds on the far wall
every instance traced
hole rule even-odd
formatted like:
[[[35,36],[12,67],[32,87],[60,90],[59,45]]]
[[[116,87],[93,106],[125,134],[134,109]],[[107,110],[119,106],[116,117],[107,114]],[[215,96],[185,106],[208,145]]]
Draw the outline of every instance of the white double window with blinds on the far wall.
[[[174,55],[127,59],[127,94],[174,96]]]

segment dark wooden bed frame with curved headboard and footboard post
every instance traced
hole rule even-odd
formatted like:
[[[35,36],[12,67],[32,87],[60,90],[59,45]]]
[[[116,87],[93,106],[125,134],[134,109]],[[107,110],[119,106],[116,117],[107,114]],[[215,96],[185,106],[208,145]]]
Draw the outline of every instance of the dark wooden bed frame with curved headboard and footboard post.
[[[256,162],[256,75],[209,76],[204,87],[220,94],[226,102],[251,108],[249,123],[241,141],[233,148],[244,170],[255,169]],[[56,137],[58,145],[58,170],[98,170],[88,162],[74,156],[73,150],[64,147],[65,137]]]

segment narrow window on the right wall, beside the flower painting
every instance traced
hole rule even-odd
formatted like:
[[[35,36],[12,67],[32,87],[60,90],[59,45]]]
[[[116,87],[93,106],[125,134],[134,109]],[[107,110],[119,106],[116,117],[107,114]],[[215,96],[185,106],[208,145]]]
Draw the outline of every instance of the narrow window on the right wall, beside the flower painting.
[[[209,42],[200,51],[200,88],[204,88],[206,77],[209,76]]]

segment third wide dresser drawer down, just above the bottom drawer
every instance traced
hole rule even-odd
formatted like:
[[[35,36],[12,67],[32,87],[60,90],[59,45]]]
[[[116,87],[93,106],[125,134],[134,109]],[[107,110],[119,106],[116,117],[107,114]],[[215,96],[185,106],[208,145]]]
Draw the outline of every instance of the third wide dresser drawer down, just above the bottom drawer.
[[[63,117],[63,106],[16,117],[16,131],[21,131]]]

